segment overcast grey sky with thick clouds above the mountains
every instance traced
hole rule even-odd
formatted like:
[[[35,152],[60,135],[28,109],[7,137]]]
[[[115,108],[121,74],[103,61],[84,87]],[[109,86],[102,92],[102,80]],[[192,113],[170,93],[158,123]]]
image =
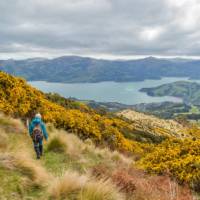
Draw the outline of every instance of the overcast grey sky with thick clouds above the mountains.
[[[0,57],[200,56],[200,0],[0,0]]]

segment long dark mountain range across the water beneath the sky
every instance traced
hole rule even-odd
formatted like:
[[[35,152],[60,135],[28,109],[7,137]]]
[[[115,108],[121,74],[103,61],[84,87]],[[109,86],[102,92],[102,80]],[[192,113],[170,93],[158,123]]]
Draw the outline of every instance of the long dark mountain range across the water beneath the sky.
[[[0,70],[28,81],[101,82],[143,81],[161,77],[200,79],[200,61],[185,59],[102,60],[78,56],[55,59],[0,60]]]

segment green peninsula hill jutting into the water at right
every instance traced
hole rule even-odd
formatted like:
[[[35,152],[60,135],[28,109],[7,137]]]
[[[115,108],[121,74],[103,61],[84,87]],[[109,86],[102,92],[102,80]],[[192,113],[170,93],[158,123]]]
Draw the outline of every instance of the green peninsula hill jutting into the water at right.
[[[200,84],[195,82],[178,81],[153,88],[142,88],[140,91],[150,96],[180,97],[186,104],[200,105]]]

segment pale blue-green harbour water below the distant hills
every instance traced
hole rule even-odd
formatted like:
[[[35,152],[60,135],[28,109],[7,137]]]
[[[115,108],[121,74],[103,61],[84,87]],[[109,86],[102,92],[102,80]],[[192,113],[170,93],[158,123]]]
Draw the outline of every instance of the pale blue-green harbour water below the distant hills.
[[[29,84],[43,92],[56,92],[64,97],[74,97],[82,100],[100,102],[119,102],[123,104],[138,104],[152,102],[182,102],[176,97],[150,97],[139,90],[144,87],[155,87],[165,83],[188,80],[188,78],[162,78],[161,80],[145,80],[140,82],[100,82],[100,83],[50,83],[31,81]]]

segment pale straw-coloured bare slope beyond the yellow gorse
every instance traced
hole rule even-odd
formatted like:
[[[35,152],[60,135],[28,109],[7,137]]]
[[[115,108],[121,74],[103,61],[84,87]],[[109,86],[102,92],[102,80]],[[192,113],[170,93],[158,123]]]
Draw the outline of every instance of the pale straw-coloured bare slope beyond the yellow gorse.
[[[189,137],[187,129],[174,120],[159,119],[153,115],[147,115],[133,110],[123,110],[118,115],[128,118],[138,129],[151,134],[156,133],[161,136],[176,138]]]

